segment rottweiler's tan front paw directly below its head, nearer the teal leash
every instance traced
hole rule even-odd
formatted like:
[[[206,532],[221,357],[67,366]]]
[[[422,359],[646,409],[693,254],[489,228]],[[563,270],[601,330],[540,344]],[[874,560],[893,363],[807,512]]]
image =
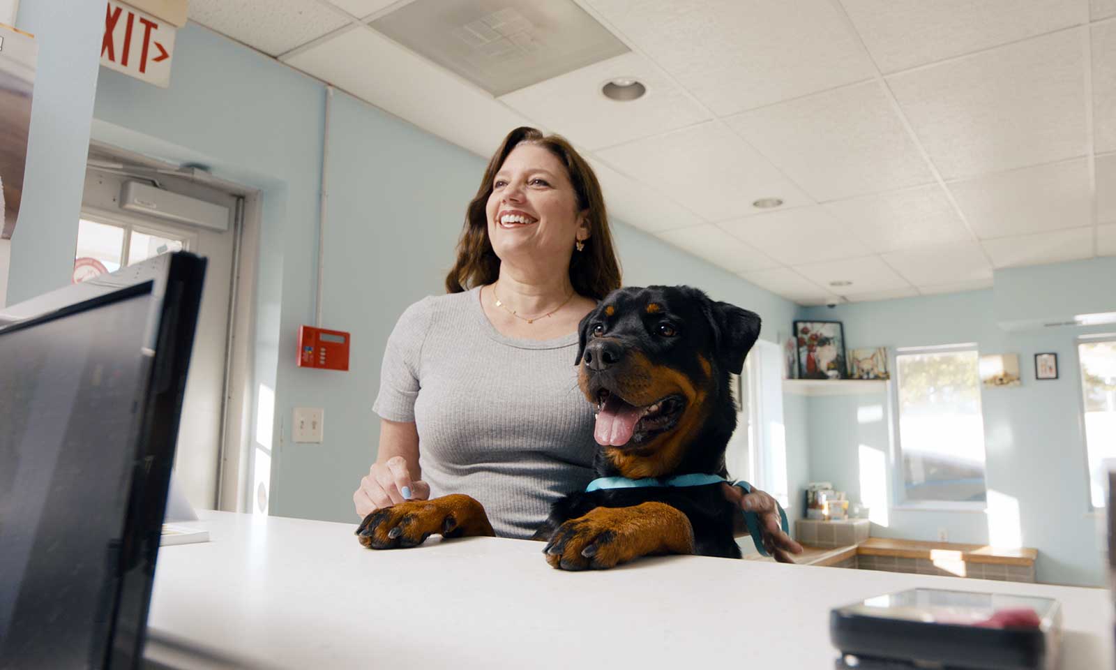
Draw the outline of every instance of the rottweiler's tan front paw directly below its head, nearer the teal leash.
[[[694,532],[663,502],[597,507],[559,526],[543,552],[558,570],[605,570],[652,554],[693,554]]]

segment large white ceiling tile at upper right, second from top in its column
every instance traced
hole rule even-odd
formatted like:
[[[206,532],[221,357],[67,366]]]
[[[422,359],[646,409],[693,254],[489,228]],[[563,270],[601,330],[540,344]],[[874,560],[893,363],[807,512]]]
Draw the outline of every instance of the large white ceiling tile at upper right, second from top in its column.
[[[893,75],[887,83],[945,179],[1085,155],[1084,30]]]

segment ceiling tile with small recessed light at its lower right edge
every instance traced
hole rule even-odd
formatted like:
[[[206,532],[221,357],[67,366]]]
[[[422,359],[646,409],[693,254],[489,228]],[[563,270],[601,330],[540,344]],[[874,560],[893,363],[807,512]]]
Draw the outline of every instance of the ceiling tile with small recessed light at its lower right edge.
[[[810,203],[756,150],[718,122],[637,140],[596,152],[597,157],[670,198],[706,221],[757,210],[760,198],[787,207]]]

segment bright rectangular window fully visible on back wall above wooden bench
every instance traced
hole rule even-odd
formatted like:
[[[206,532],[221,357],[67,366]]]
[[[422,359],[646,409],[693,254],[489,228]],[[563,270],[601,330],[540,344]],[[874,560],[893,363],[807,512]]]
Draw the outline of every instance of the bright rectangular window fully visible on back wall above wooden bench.
[[[907,350],[895,362],[903,500],[984,502],[977,350]]]

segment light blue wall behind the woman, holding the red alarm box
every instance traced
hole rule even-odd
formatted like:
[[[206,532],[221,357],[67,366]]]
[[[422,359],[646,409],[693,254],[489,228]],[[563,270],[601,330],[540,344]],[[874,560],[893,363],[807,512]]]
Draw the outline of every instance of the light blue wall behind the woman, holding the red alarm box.
[[[276,399],[271,513],[354,520],[352,491],[378,442],[371,406],[384,345],[407,305],[443,293],[485,161],[335,95],[323,314],[326,327],[353,334],[354,348],[348,373],[299,368],[297,328],[314,323],[324,102],[319,82],[187,25],[170,89],[102,73],[93,134],[262,190],[256,374]],[[764,337],[789,329],[791,303],[622,222],[614,234],[628,284],[693,284],[760,313]],[[291,441],[300,405],[326,409],[324,443]]]

